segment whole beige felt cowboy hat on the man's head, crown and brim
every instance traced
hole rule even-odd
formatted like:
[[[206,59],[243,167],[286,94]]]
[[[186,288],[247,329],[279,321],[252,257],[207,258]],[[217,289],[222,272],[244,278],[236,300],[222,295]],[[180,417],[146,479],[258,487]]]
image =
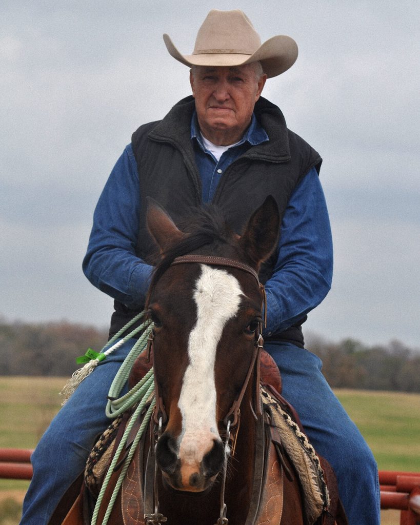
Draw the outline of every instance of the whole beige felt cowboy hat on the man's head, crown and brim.
[[[241,66],[259,60],[268,78],[289,69],[298,57],[292,38],[277,35],[261,44],[249,18],[239,9],[212,9],[199,28],[192,55],[182,55],[169,35],[164,34],[166,49],[186,66]]]

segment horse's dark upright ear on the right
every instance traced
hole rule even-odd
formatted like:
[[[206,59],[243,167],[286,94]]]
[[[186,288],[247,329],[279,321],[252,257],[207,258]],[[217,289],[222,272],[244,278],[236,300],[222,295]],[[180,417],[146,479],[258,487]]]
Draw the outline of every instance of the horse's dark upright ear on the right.
[[[266,260],[276,247],[280,214],[276,200],[269,195],[248,220],[239,244],[256,267]]]

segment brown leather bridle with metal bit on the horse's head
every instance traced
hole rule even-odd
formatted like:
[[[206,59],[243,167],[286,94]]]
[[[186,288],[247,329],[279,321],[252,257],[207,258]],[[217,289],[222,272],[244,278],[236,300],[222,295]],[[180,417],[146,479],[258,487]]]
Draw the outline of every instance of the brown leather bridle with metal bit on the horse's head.
[[[182,255],[180,257],[176,257],[172,262],[170,266],[179,265],[179,264],[205,264],[210,266],[225,266],[229,268],[236,268],[239,270],[243,270],[253,276],[255,280],[257,281],[258,288],[261,293],[261,299],[262,299],[262,307],[264,307],[264,326],[267,324],[267,298],[265,293],[264,285],[261,284],[257,272],[254,270],[254,268],[251,268],[249,265],[236,261],[234,259],[229,259],[225,257],[216,257],[211,255]],[[155,284],[155,283],[154,283]],[[153,348],[153,340],[154,340],[154,333],[152,332],[148,339],[148,352],[150,355],[150,352]],[[241,390],[239,392],[239,395],[236,397],[236,400],[234,401],[232,407],[230,407],[228,413],[223,419],[223,423],[226,426],[226,440],[225,440],[225,459],[224,459],[224,465],[223,465],[223,478],[222,478],[222,489],[220,492],[220,516],[217,520],[217,523],[215,525],[227,525],[228,519],[226,518],[226,504],[224,501],[225,496],[225,484],[226,484],[226,472],[227,472],[227,463],[228,459],[231,454],[231,447],[229,446],[230,442],[230,435],[232,431],[234,430],[234,442],[236,442],[237,437],[237,431],[239,428],[239,417],[240,417],[240,405],[242,403],[243,397],[245,395],[246,389],[248,387],[249,381],[251,379],[251,376],[253,375],[254,370],[256,371],[256,385],[254,389],[254,408],[251,404],[251,411],[254,414],[254,417],[257,419],[258,416],[261,415],[261,403],[259,400],[259,361],[260,361],[260,355],[261,351],[264,345],[264,340],[262,339],[262,321],[259,322],[258,328],[255,331],[255,337],[254,337],[254,351],[253,355],[248,367],[248,372],[245,376],[244,383],[241,387]],[[154,411],[154,423],[156,425],[156,428],[158,429],[157,435],[155,433],[155,444],[158,442],[159,437],[162,435],[162,428],[163,425],[167,421],[167,415],[165,411],[165,407],[163,404],[162,397],[159,393],[159,385],[156,381],[156,375],[155,375],[155,400],[156,400],[156,407]],[[158,484],[157,484],[157,475],[158,475],[158,467],[157,462],[155,460],[155,472],[154,472],[154,513],[145,513],[144,517],[146,519],[147,525],[160,525],[161,522],[166,521],[166,518],[162,516],[162,514],[159,512],[159,497],[158,497]]]

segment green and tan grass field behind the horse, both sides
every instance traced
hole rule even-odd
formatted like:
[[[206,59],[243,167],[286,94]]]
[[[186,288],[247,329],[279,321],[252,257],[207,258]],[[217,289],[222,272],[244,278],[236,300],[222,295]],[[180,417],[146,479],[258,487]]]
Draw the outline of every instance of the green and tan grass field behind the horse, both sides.
[[[58,395],[66,378],[0,376],[0,448],[34,448],[57,413]],[[393,392],[337,390],[340,401],[369,443],[381,470],[420,471],[420,395]],[[0,525],[15,525],[18,517],[3,519],[5,508],[16,506],[26,481],[0,480]],[[3,494],[3,498],[2,498]],[[398,513],[383,512],[383,523],[395,525]]]

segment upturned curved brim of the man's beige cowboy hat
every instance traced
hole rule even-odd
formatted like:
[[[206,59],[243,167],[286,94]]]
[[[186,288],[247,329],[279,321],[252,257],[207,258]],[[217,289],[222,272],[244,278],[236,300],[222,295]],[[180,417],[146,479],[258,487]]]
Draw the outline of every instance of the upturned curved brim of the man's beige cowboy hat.
[[[182,55],[173,44],[171,37],[163,35],[163,41],[169,54],[185,66],[229,67],[243,66],[260,61],[268,78],[277,77],[287,71],[298,58],[298,46],[286,35],[269,38],[252,55],[238,53],[203,53]]]

